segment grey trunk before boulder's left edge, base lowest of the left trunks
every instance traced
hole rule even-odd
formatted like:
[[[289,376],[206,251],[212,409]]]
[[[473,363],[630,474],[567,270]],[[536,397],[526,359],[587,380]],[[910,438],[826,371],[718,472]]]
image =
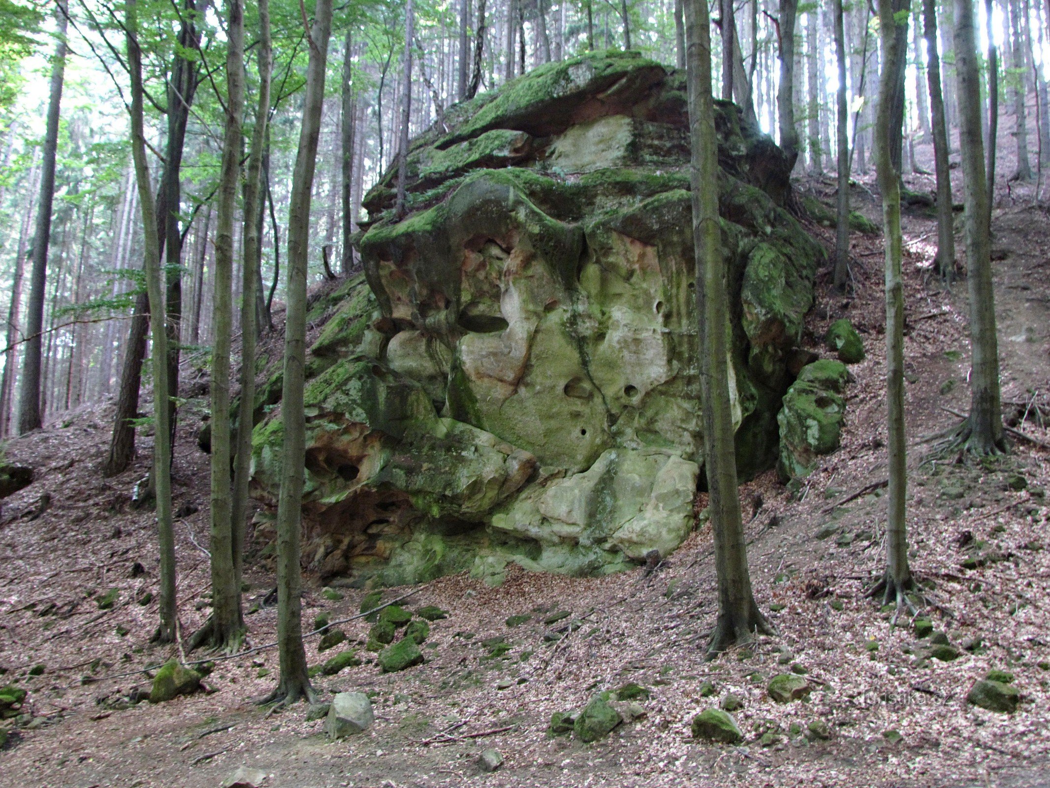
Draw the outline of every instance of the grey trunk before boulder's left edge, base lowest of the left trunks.
[[[307,356],[307,257],[310,237],[310,195],[317,164],[324,68],[332,30],[332,0],[317,0],[310,30],[310,61],[302,106],[302,128],[292,177],[288,220],[288,312],[285,319],[285,381],[281,419],[285,440],[280,497],[277,504],[277,647],[280,682],[271,700],[290,704],[302,697],[313,701],[302,647],[302,608],[299,600],[302,484],[306,464],[306,414],[302,405]],[[408,39],[412,40],[411,37]]]

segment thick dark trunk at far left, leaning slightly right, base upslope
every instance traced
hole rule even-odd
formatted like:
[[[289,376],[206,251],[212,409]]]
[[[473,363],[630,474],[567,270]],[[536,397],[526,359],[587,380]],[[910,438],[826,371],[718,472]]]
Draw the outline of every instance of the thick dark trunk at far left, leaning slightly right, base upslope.
[[[43,423],[40,405],[41,332],[44,328],[44,297],[47,288],[47,247],[51,239],[51,205],[55,202],[55,161],[59,147],[59,120],[66,58],[66,1],[59,0],[58,42],[51,60],[50,98],[47,104],[47,130],[41,164],[40,205],[37,207],[37,231],[33,239],[33,267],[29,273],[29,304],[26,309],[25,347],[22,349],[22,376],[19,381],[18,431],[27,433]]]

